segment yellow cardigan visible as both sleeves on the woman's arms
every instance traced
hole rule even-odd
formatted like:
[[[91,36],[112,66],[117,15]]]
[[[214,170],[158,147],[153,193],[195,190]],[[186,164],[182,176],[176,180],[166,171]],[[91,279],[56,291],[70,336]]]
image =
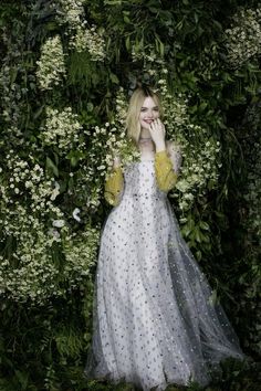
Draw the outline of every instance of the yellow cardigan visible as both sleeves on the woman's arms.
[[[163,191],[168,192],[177,182],[177,173],[174,171],[173,162],[166,150],[155,154],[155,173],[158,188]],[[123,171],[121,167],[117,167],[105,181],[104,197],[111,205],[116,207],[119,203],[123,186]]]

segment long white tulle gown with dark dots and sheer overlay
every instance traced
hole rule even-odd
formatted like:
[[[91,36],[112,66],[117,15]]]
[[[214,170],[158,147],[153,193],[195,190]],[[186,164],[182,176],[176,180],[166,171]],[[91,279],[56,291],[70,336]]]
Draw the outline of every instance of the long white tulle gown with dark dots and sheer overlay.
[[[188,245],[154,160],[125,168],[125,189],[102,232],[87,352],[87,379],[143,390],[194,380],[227,357],[243,358],[237,336]]]

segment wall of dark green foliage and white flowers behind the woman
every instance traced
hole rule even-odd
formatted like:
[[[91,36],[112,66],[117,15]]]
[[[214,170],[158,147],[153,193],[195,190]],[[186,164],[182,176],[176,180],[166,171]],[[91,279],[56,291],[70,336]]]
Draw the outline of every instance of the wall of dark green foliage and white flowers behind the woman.
[[[82,372],[103,184],[112,149],[135,159],[138,83],[161,94],[184,155],[169,198],[250,357],[209,390],[258,390],[261,4],[2,0],[0,32],[0,390],[116,389]]]

